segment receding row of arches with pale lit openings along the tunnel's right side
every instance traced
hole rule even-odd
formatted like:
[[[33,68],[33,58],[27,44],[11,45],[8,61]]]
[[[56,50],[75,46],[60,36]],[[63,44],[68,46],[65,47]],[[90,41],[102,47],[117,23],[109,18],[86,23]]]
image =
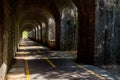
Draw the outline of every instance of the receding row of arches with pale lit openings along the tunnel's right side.
[[[77,7],[73,5],[72,8],[63,8],[63,10],[61,10],[61,16],[57,17],[59,18],[59,22],[53,14],[49,11],[47,13],[49,13],[50,16],[48,15],[42,19],[39,19],[40,14],[38,15],[38,19],[35,17],[31,20],[30,17],[33,14],[31,14],[28,19],[24,19],[23,17],[20,22],[20,28],[25,30],[32,27],[31,31],[29,31],[29,38],[43,42],[54,49],[77,49]],[[44,15],[40,16],[42,17]],[[70,48],[68,48],[68,46],[70,46]]]

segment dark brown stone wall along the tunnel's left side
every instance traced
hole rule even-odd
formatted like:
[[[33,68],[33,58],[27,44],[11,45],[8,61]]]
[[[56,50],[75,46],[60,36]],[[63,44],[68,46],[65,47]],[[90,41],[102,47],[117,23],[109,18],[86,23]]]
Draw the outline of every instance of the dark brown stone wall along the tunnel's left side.
[[[15,26],[12,8],[7,0],[0,1],[0,80],[5,80],[15,51]]]

